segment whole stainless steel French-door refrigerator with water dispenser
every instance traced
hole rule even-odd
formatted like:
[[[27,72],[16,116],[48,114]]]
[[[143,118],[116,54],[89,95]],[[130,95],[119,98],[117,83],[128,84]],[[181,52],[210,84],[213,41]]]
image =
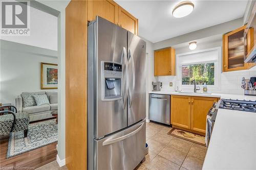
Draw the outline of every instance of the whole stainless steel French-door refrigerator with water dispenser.
[[[145,157],[146,43],[101,17],[88,26],[88,169]]]

